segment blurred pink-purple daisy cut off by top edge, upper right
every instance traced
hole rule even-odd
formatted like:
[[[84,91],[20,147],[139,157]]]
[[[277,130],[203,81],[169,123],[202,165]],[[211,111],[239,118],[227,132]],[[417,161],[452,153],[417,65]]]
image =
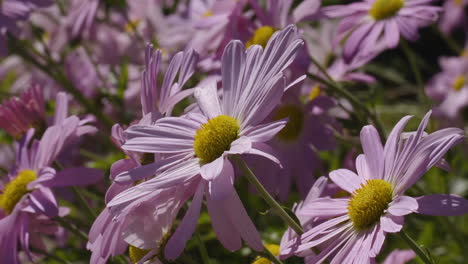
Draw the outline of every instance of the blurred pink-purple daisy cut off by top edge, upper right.
[[[346,41],[343,57],[350,62],[395,48],[400,34],[408,40],[416,40],[418,29],[435,22],[441,11],[440,7],[430,5],[433,1],[364,0],[325,7],[323,12],[329,17],[343,17],[337,41]]]

